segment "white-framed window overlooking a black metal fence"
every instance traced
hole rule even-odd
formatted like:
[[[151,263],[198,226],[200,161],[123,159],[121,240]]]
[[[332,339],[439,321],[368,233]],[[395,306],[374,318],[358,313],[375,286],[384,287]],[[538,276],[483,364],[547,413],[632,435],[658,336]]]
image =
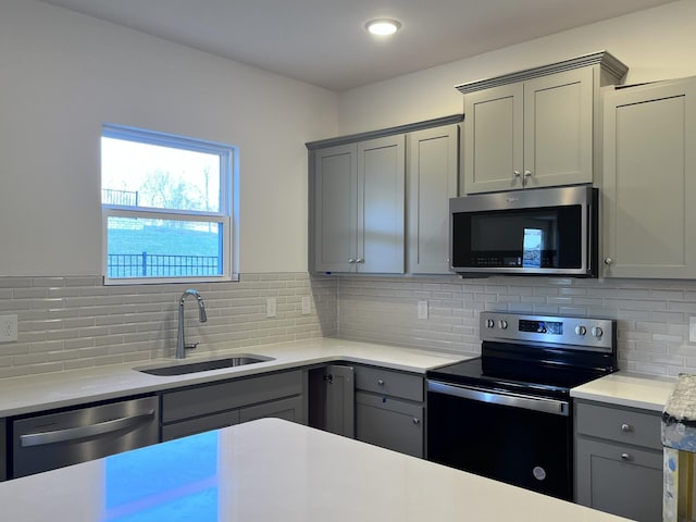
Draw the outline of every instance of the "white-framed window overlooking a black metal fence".
[[[235,152],[210,141],[103,126],[105,284],[236,278]]]

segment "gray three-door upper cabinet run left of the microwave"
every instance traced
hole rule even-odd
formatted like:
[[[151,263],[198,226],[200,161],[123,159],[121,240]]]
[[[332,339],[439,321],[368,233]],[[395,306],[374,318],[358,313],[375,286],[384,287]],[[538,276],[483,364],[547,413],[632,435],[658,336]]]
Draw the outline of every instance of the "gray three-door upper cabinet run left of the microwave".
[[[307,144],[311,272],[449,273],[461,120]]]

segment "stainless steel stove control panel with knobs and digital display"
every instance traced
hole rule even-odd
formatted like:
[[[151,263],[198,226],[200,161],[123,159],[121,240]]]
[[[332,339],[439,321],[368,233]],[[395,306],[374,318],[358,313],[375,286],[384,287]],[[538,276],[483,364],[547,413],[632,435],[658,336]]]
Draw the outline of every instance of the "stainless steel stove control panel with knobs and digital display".
[[[480,326],[481,340],[502,343],[534,341],[611,351],[617,339],[617,324],[610,319],[481,312]]]

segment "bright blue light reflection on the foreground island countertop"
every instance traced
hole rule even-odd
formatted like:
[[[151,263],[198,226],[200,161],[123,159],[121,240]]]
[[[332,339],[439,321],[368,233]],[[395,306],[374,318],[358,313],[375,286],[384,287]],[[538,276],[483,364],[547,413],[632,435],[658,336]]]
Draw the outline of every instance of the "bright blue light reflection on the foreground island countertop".
[[[102,521],[216,521],[217,460],[215,431],[108,457]]]

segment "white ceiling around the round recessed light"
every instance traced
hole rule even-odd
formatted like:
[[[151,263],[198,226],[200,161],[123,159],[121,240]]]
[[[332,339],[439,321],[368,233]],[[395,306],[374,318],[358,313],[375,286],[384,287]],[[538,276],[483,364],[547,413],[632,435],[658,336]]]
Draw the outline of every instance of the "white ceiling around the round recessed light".
[[[42,1],[340,92],[674,0]]]

